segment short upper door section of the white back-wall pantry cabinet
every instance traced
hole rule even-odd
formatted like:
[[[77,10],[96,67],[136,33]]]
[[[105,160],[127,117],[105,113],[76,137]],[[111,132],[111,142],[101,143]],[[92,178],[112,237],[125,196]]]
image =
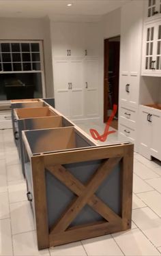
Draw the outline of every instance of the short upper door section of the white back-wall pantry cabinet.
[[[52,23],[51,26],[54,57],[98,57],[96,31],[99,30],[93,24]]]

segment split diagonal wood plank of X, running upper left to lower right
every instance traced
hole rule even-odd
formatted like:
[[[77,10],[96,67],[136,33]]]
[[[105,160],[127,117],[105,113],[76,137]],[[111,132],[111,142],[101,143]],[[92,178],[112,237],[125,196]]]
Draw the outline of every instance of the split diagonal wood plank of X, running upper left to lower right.
[[[121,160],[121,158],[120,158]],[[76,195],[80,196],[81,193],[83,193],[83,190],[85,190],[85,185],[83,185],[79,180],[74,177],[68,170],[66,170],[61,165],[55,166],[55,167],[48,167],[48,171],[55,175],[58,180],[60,180],[65,186],[70,188],[72,192],[74,192]],[[108,208],[108,205],[106,205],[101,199],[99,199],[96,195],[92,195],[89,201],[87,202],[93,210],[98,212],[103,218],[106,219],[108,222],[121,222],[121,218],[111,210],[111,208]],[[52,229],[51,229],[52,231]]]

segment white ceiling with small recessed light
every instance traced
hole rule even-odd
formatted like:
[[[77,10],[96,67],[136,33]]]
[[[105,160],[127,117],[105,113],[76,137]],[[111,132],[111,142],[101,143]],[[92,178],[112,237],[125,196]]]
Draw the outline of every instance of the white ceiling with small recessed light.
[[[127,1],[130,0],[0,0],[0,17],[100,17],[120,8]],[[72,6],[68,7],[68,3],[72,3]]]

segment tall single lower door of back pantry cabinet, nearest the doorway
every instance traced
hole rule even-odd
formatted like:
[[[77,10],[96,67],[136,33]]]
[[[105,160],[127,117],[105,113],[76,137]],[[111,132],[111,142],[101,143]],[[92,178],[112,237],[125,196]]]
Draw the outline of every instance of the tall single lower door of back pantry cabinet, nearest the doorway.
[[[85,115],[98,115],[98,59],[86,59],[84,62]]]

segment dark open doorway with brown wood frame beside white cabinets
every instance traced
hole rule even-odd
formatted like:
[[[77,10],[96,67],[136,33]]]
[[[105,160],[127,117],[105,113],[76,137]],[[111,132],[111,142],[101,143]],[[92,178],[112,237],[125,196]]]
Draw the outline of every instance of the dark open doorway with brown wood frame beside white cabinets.
[[[120,36],[104,40],[104,123],[117,104],[117,113],[111,126],[118,128],[119,109],[119,51]]]

